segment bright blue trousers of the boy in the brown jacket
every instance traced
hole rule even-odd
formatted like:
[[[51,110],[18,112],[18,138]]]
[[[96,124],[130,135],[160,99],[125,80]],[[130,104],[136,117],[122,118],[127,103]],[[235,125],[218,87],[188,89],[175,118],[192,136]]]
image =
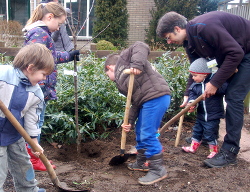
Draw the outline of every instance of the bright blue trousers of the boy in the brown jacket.
[[[170,95],[164,95],[145,102],[136,122],[136,149],[145,149],[147,158],[162,151],[162,145],[156,137],[161,120],[170,105]]]

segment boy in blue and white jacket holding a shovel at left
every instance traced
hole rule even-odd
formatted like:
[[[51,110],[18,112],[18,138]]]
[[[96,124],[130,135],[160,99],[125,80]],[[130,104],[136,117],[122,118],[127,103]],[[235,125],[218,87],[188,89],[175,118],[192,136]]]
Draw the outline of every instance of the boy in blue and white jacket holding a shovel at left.
[[[30,44],[20,49],[13,66],[0,65],[0,100],[25,128],[36,145],[40,135],[39,115],[44,105],[38,82],[54,70],[54,59],[44,45]],[[40,152],[35,152],[40,155]],[[34,169],[24,138],[0,110],[0,191],[8,174],[14,178],[16,191],[45,192],[37,187]]]

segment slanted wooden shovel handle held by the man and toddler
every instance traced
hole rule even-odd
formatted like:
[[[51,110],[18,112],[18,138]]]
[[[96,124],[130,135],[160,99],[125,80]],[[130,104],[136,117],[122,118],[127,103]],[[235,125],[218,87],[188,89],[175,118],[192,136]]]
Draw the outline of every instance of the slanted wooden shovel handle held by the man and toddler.
[[[183,114],[187,113],[190,109],[190,107],[195,106],[197,103],[199,103],[203,99],[203,95],[200,95],[197,99],[195,99],[192,103],[190,103],[189,106],[186,106],[184,109],[182,109],[179,113],[177,113],[172,119],[170,119],[159,131],[160,136],[163,135],[165,130],[172,125],[174,122],[176,122]]]

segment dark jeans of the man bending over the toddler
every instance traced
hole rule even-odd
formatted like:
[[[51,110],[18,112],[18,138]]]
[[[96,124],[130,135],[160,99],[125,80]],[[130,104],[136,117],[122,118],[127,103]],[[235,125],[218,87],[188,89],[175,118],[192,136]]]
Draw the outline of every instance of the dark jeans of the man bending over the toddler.
[[[238,66],[238,72],[230,79],[225,101],[226,135],[222,145],[235,154],[240,150],[241,129],[244,119],[244,99],[250,90],[250,53],[246,54]]]

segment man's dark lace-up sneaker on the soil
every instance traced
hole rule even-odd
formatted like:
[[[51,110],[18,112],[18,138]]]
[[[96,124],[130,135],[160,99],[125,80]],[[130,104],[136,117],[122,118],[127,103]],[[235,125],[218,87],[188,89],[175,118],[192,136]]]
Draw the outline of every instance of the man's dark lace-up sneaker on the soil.
[[[211,168],[225,167],[236,164],[237,154],[221,149],[213,158],[204,160],[205,165]]]

